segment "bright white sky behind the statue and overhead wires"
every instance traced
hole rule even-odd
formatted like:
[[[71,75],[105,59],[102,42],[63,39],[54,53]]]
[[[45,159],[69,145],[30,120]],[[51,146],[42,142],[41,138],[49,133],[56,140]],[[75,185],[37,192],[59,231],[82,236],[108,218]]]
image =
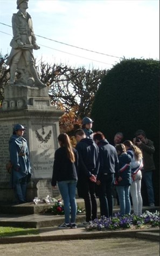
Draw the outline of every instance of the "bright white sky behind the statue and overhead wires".
[[[16,0],[0,0],[3,55],[11,50],[12,28],[1,23],[11,26],[16,7]],[[159,0],[29,0],[27,11],[36,35],[121,58],[159,59]],[[120,61],[52,40],[37,36],[37,61],[99,69],[112,68]]]

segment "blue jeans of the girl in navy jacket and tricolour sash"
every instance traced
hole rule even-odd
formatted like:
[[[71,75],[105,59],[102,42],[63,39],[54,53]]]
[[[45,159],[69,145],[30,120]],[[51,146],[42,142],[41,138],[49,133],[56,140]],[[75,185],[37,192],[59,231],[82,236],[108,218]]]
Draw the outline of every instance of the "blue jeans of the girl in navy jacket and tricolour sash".
[[[116,186],[120,202],[120,215],[130,214],[129,186]]]

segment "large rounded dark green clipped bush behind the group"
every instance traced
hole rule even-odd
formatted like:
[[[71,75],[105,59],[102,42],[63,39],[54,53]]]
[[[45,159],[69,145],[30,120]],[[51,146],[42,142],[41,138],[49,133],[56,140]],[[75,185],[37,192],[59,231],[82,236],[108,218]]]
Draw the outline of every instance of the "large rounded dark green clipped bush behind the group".
[[[133,140],[137,129],[154,141],[159,196],[159,61],[124,59],[116,64],[95,95],[91,117],[94,131],[100,130],[109,141],[116,132],[123,132],[124,140]]]

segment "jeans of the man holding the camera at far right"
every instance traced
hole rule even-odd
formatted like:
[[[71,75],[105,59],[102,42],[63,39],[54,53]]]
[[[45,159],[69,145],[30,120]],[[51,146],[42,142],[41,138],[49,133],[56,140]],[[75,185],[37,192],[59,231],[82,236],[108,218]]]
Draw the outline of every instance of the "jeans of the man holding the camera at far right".
[[[153,185],[152,185],[152,173],[153,173],[152,171],[143,171],[142,170],[142,178],[143,178],[144,183],[147,188],[149,204],[155,203],[154,189],[153,189]]]

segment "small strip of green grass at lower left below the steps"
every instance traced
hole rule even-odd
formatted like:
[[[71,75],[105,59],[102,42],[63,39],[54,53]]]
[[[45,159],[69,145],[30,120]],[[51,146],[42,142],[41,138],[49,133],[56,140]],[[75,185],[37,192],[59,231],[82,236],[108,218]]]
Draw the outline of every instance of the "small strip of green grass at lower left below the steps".
[[[37,229],[23,229],[23,227],[0,227],[0,237],[26,236],[39,234]]]

